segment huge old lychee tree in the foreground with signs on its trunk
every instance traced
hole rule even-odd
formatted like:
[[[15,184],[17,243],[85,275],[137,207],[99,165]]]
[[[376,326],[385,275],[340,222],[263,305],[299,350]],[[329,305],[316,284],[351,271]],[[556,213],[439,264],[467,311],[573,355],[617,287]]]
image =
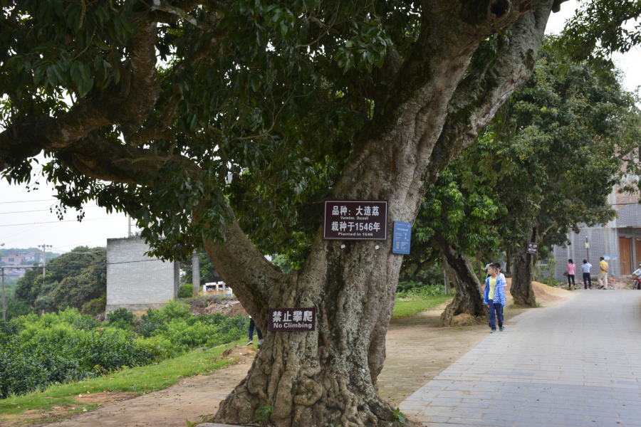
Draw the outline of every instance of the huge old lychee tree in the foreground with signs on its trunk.
[[[320,201],[413,222],[561,1],[0,4],[6,179],[33,184],[39,156],[61,208],[125,212],[165,258],[204,249],[262,330],[270,307],[316,307],[315,331],[267,334],[216,420],[391,426],[377,376],[402,256],[323,241]],[[289,250],[288,274],[263,255]]]

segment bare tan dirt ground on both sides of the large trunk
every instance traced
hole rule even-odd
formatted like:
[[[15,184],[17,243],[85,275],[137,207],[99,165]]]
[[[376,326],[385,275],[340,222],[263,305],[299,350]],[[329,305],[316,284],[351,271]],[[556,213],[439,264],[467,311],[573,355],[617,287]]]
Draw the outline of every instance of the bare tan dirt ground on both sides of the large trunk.
[[[543,295],[545,292],[547,295]],[[509,295],[509,292],[507,292]],[[571,297],[571,292],[541,285],[541,305],[558,305]],[[511,297],[508,297],[511,300]],[[526,309],[509,308],[506,304],[506,326],[509,319]],[[379,379],[383,399],[397,406],[427,381],[449,367],[482,339],[489,330],[486,325],[438,327],[442,307],[412,317],[393,320],[387,333],[387,359]],[[535,309],[536,310],[536,309]],[[239,356],[243,353],[242,356]],[[214,371],[207,376],[193,376],[162,391],[145,394],[127,401],[107,404],[90,413],[49,424],[58,427],[185,427],[199,421],[200,415],[216,413],[220,402],[247,374],[254,354],[249,347],[233,347],[230,357],[240,363]],[[249,356],[249,357],[248,357]]]

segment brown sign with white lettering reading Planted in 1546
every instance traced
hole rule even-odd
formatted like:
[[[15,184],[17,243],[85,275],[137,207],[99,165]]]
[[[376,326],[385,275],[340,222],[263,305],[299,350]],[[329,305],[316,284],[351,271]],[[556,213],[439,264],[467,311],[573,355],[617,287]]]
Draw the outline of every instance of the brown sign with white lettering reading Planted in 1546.
[[[323,240],[387,240],[387,201],[325,200]]]

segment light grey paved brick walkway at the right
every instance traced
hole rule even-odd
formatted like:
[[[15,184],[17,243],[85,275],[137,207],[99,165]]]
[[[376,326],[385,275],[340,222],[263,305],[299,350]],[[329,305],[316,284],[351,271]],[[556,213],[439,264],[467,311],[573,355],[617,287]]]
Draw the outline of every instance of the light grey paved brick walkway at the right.
[[[401,411],[424,426],[641,426],[641,291],[578,292],[488,334]]]

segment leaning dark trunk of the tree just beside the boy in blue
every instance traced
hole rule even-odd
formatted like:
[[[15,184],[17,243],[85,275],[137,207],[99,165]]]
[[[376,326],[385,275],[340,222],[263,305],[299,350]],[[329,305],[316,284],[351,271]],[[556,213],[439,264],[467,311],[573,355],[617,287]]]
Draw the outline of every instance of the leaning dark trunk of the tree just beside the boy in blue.
[[[472,316],[488,316],[488,307],[483,303],[483,290],[479,277],[474,273],[474,265],[464,253],[457,251],[454,244],[442,236],[434,236],[434,243],[439,247],[443,266],[447,275],[457,289],[457,295],[441,315],[441,325],[452,325],[452,317],[467,313]]]

